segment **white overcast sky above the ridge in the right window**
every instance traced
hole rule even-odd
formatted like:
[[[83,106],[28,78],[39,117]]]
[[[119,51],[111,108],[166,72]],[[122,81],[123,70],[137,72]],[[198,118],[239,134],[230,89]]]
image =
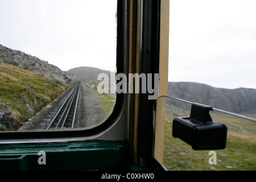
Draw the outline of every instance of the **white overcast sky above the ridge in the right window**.
[[[171,0],[171,81],[256,89],[256,1]]]

